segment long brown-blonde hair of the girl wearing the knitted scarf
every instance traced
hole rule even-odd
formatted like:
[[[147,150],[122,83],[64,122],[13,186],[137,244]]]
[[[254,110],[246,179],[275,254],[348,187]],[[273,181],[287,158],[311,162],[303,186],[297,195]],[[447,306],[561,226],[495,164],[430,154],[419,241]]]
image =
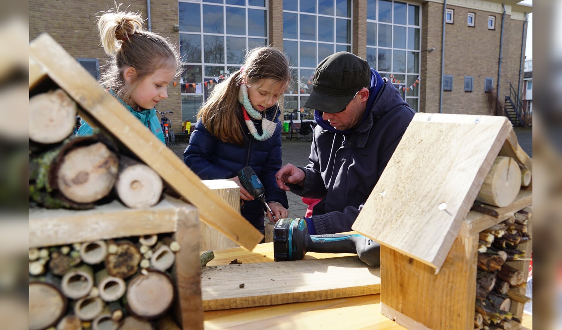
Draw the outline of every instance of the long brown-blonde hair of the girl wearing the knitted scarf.
[[[240,70],[234,72],[212,89],[209,99],[197,113],[197,119],[201,119],[216,138],[238,145],[244,145],[243,117],[238,104],[244,77],[250,85],[268,78],[287,84],[291,78],[287,55],[271,46],[248,51],[242,67],[243,73]]]

